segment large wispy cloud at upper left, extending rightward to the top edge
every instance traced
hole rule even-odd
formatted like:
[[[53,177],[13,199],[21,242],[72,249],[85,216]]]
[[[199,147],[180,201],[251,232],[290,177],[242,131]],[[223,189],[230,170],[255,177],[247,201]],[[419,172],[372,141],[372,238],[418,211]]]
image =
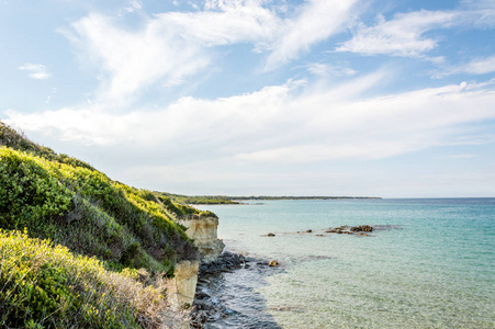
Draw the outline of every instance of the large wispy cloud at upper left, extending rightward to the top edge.
[[[357,1],[308,1],[295,19],[282,19],[282,9],[263,0],[206,1],[204,10],[144,18],[138,30],[90,14],[63,34],[82,63],[102,70],[99,100],[125,102],[157,83],[185,82],[212,64],[216,46],[252,44],[254,52],[269,52],[268,68],[277,67],[340,31]],[[134,1],[130,10],[139,8]]]

